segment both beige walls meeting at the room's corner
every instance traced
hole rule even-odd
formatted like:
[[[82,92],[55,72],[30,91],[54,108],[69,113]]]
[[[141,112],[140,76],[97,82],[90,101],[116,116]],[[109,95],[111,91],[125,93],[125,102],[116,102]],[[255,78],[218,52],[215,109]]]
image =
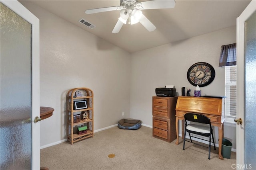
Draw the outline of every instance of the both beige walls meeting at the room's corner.
[[[173,84],[177,95],[183,86],[193,93],[186,73],[197,62],[210,63],[216,71],[214,81],[201,88],[202,95],[225,95],[225,70],[218,60],[221,45],[236,42],[236,27],[130,54],[30,2],[22,4],[40,19],[40,103],[55,109],[41,121],[43,147],[66,139],[64,108],[70,88],[94,91],[96,131],[128,117],[152,127],[155,88]],[[234,145],[235,128],[226,129]]]

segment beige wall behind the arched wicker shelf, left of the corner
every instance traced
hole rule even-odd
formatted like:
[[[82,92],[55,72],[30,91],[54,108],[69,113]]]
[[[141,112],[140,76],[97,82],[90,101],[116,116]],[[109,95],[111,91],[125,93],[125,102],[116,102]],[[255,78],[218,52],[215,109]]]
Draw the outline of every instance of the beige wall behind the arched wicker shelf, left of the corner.
[[[22,4],[40,20],[40,105],[55,109],[40,123],[41,146],[66,139],[65,101],[71,88],[93,90],[94,130],[129,117],[130,53],[30,2]]]

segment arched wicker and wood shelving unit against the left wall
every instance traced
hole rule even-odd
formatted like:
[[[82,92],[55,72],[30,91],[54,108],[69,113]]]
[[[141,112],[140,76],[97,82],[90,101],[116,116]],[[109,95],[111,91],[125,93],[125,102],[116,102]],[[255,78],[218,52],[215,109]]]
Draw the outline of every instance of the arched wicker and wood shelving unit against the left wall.
[[[82,96],[76,97],[79,91]],[[86,101],[86,109],[74,109],[74,102]],[[84,119],[83,113],[88,113]],[[74,142],[93,137],[93,92],[89,88],[73,88],[68,91],[66,97],[66,114],[67,114],[67,139],[73,144]],[[80,115],[80,121],[74,123],[74,115]],[[78,135],[78,126],[87,126],[87,133]]]

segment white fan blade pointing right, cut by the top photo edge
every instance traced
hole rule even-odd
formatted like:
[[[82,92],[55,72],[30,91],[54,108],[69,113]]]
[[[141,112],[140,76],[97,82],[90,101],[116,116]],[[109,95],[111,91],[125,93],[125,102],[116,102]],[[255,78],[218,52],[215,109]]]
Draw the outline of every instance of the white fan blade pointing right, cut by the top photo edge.
[[[174,8],[176,2],[174,0],[151,0],[141,2],[142,10]]]

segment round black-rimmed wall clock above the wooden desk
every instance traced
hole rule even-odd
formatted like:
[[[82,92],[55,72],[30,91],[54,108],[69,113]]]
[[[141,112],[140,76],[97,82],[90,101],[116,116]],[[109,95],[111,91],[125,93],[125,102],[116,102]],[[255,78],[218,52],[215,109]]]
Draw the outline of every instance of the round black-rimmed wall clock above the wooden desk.
[[[199,62],[193,64],[187,72],[187,78],[193,86],[204,87],[209,85],[215,77],[215,70],[211,64]]]

